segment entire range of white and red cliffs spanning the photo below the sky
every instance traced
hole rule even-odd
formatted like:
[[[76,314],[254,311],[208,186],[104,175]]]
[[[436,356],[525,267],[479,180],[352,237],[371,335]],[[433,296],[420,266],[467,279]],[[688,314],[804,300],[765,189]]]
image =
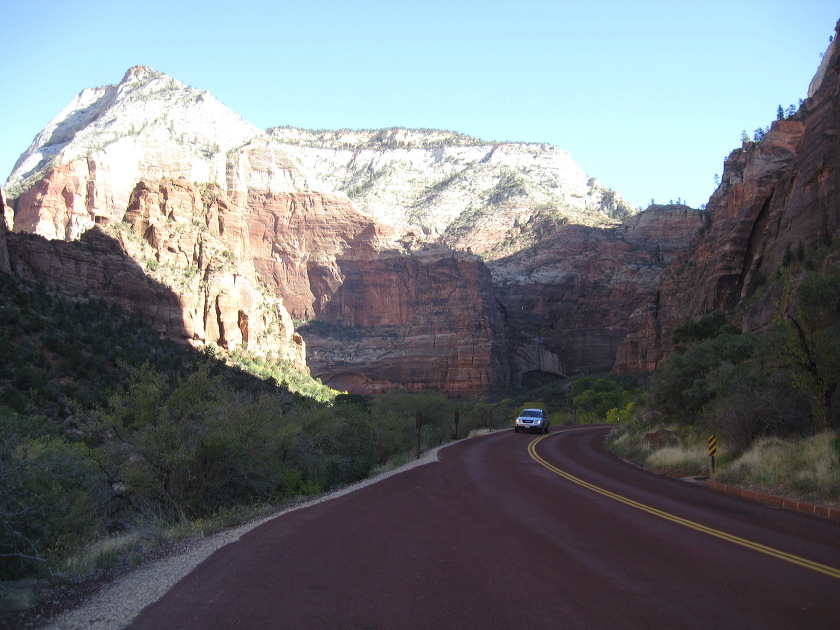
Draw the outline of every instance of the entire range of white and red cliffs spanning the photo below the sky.
[[[135,67],[82,92],[21,157],[0,267],[355,393],[652,370],[681,322],[725,310],[761,329],[779,266],[823,264],[840,233],[836,45],[818,76],[794,116],[733,151],[706,211],[638,212],[557,147],[260,130]]]

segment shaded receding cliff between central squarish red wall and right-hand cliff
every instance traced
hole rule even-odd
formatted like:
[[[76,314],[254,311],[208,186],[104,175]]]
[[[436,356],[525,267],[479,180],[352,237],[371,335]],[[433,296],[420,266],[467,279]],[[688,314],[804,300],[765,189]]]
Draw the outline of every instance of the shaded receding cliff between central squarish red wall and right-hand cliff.
[[[666,264],[704,221],[699,210],[657,206],[616,228],[561,226],[491,263],[513,383],[610,370],[631,317],[656,301]]]

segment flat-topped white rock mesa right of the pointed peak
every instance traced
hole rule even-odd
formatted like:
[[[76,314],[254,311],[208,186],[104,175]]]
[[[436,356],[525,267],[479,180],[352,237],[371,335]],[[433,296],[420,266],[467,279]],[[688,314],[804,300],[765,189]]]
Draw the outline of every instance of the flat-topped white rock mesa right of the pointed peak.
[[[638,212],[547,144],[402,128],[268,133],[301,170],[407,243],[494,259],[533,243],[531,225],[609,226]]]

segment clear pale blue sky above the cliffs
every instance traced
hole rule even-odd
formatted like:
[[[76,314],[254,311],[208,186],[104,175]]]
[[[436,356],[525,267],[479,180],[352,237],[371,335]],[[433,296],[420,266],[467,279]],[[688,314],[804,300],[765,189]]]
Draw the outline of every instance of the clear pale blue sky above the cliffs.
[[[0,6],[0,181],[78,92],[142,64],[263,128],[547,142],[643,207],[706,203],[742,130],[806,97],[840,18],[836,0]]]

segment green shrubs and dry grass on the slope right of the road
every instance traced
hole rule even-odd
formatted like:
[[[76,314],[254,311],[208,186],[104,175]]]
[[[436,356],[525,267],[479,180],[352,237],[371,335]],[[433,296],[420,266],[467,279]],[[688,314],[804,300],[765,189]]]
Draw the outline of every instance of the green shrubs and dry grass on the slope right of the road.
[[[660,472],[708,474],[715,435],[719,480],[840,501],[840,272],[788,257],[761,292],[778,310],[761,334],[722,312],[677,328],[645,413],[608,444]]]

